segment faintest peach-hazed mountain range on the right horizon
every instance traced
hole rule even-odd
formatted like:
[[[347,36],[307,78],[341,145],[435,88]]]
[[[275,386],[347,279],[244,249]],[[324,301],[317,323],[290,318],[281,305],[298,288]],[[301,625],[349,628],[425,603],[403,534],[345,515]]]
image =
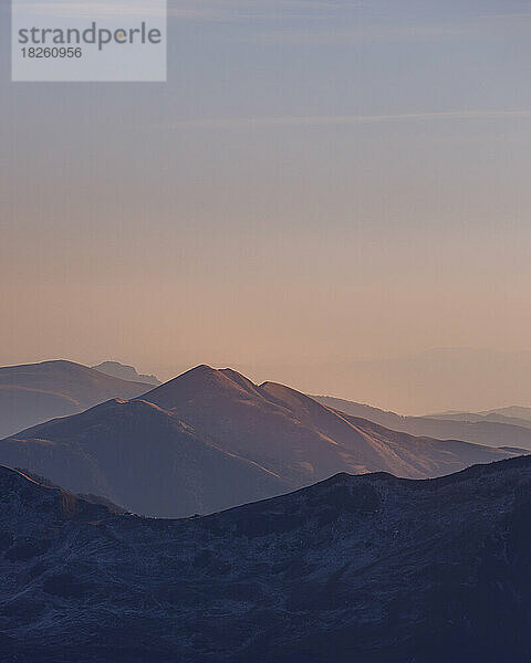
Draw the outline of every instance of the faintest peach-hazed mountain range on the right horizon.
[[[285,372],[284,372],[285,371]],[[279,376],[315,393],[345,393],[352,400],[382,403],[395,412],[467,410],[499,403],[531,406],[531,351],[498,352],[472,348],[435,348],[418,354],[365,361],[326,361],[309,370],[279,367]],[[285,379],[285,378],[284,378]],[[363,399],[363,400],[362,400]],[[441,406],[442,403],[442,406]]]

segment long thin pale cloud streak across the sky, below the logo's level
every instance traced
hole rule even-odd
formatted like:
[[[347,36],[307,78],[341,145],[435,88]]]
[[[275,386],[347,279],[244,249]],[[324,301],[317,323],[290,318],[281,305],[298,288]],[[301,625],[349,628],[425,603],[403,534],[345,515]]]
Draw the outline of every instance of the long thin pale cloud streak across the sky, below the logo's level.
[[[179,129],[258,129],[262,127],[319,127],[421,122],[431,119],[531,119],[531,110],[441,110],[433,113],[404,113],[394,115],[321,115],[284,117],[235,117],[217,119],[206,118],[183,119],[159,126],[162,126],[162,128]]]

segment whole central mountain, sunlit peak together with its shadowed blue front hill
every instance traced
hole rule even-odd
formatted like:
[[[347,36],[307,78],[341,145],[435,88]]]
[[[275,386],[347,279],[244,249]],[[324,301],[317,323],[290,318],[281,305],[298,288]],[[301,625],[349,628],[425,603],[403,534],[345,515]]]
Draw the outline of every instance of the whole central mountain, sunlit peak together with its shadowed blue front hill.
[[[207,366],[142,400],[112,400],[0,442],[6,465],[156,516],[211,513],[337,472],[423,478],[512,455],[394,432],[282,385]]]

